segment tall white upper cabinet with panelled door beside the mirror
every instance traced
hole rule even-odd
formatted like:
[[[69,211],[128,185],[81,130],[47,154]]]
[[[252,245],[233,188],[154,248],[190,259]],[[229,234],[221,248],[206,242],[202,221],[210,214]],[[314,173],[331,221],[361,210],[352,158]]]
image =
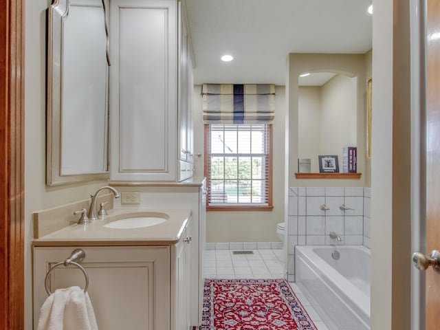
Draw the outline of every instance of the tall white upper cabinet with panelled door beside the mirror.
[[[192,68],[177,0],[110,1],[110,181],[192,176]]]

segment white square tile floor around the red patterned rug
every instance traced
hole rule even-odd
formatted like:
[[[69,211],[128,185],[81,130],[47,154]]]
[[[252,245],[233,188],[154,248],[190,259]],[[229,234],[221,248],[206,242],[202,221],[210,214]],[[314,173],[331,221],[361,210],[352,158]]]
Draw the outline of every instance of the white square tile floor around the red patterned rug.
[[[285,278],[283,250],[252,250],[253,254],[233,254],[232,250],[207,250],[203,260],[206,278]],[[329,330],[295,283],[289,283],[318,330]]]

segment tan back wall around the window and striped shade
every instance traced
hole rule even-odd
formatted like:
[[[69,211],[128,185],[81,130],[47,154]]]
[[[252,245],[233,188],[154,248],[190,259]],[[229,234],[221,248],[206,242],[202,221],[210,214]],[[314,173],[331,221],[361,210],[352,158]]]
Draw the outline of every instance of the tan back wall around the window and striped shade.
[[[273,199],[271,212],[207,212],[208,242],[276,242],[276,223],[284,221],[285,209],[285,88],[275,88]],[[195,176],[203,176],[203,120],[200,86],[194,90]]]

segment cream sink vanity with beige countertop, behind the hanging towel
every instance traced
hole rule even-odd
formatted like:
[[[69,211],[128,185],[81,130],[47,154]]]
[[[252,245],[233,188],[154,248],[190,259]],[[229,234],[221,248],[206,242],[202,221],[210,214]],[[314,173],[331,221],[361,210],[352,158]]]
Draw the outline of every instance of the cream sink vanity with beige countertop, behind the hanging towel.
[[[111,228],[126,218],[163,217],[142,228]],[[122,220],[121,220],[122,219]],[[65,261],[75,249],[87,272],[87,292],[98,327],[106,330],[174,330],[190,327],[191,210],[110,210],[89,225],[70,225],[32,244],[34,270],[34,329],[47,298],[47,288],[85,287],[85,274]],[[129,224],[130,226],[130,224]]]

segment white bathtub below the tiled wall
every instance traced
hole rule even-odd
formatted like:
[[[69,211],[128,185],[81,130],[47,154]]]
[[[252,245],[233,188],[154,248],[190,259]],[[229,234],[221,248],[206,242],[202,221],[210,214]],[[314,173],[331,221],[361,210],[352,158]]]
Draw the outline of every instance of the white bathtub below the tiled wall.
[[[340,253],[338,260],[331,256]],[[370,250],[362,245],[296,245],[296,284],[330,330],[370,329]]]

